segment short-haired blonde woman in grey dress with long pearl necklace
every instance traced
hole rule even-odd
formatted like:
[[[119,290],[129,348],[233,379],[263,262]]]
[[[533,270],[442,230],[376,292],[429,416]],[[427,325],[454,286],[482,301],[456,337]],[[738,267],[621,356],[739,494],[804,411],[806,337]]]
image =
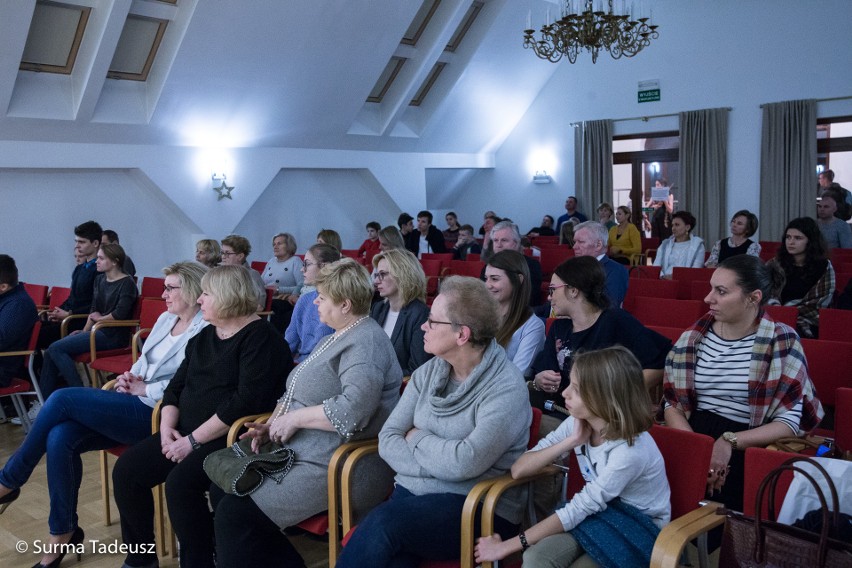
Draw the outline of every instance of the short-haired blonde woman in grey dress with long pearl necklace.
[[[344,258],[317,277],[315,300],[334,333],[290,373],[267,424],[250,423],[252,448],[272,441],[295,451],[281,483],[266,481],[250,496],[213,485],[219,566],[294,566],[299,556],[282,529],[328,509],[332,453],[353,439],[375,437],[399,400],[402,371],[387,335],[368,315],[367,270]],[[303,564],[302,564],[303,565]]]

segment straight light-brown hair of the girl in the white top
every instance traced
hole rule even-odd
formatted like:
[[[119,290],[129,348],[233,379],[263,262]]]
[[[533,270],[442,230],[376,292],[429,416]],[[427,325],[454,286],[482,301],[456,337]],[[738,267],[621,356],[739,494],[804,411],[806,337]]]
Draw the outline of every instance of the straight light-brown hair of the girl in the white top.
[[[627,348],[615,345],[577,353],[571,370],[586,408],[606,422],[608,440],[626,440],[632,446],[636,436],[651,428],[642,365]]]

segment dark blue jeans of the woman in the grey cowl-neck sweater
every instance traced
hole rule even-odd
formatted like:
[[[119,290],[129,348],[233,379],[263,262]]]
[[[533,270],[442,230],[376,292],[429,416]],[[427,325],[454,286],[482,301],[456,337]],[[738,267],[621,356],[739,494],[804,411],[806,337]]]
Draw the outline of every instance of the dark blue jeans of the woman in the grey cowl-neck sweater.
[[[352,533],[337,568],[417,568],[421,559],[458,558],[466,497],[457,493],[418,496],[397,485],[390,499],[370,511]],[[517,525],[500,517],[494,519],[494,528],[504,539],[517,534]]]

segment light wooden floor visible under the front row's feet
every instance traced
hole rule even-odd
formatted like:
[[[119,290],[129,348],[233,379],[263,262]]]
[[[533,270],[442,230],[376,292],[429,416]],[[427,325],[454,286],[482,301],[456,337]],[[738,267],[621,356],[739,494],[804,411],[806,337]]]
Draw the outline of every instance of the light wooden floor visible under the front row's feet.
[[[5,464],[9,456],[23,441],[20,426],[10,423],[0,424],[0,464]],[[80,568],[118,568],[124,561],[123,554],[92,552],[90,540],[97,540],[98,547],[120,544],[121,529],[118,524],[118,511],[112,504],[113,524],[105,526],[101,505],[101,482],[98,470],[98,453],[83,454],[83,483],[80,487],[79,516],[80,527],[86,533],[86,553],[79,564],[76,559],[66,557],[62,565]],[[110,459],[110,464],[115,462]],[[50,500],[47,494],[47,470],[45,460],[33,472],[29,482],[21,489],[21,496],[0,515],[0,566],[3,568],[29,567],[36,564],[41,554],[33,553],[37,541],[48,537],[47,517]],[[328,566],[328,549],[325,542],[308,537],[293,537],[293,543],[302,553],[309,568]],[[26,546],[27,552],[18,552],[16,547]],[[173,558],[161,558],[162,568],[177,567]]]

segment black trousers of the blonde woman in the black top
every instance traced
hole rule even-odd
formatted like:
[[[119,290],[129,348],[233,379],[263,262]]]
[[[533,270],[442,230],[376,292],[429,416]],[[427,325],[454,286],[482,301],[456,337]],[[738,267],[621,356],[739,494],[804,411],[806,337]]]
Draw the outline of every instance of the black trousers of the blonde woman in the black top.
[[[115,502],[121,514],[121,537],[131,545],[128,566],[145,566],[157,554],[138,545],[154,543],[154,497],[151,489],[166,483],[169,519],[180,540],[182,568],[213,568],[213,518],[206,492],[210,479],[204,473],[204,458],[225,447],[225,437],[203,444],[180,463],[167,459],[155,434],[125,451],[112,472]],[[136,545],[136,546],[134,546]],[[220,564],[227,566],[227,564]],[[236,566],[239,566],[237,564]]]

